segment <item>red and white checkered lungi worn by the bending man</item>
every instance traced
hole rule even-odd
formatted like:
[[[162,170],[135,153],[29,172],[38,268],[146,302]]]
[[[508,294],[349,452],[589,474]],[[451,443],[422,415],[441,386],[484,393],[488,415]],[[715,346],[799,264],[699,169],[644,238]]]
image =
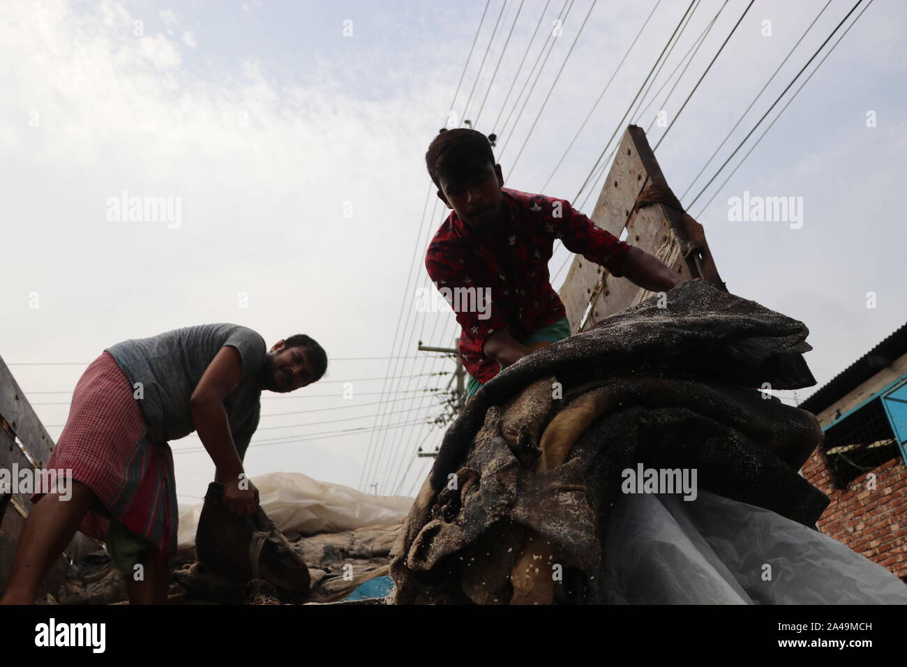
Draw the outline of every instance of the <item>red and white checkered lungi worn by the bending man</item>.
[[[176,553],[179,520],[173,455],[151,442],[132,385],[110,353],[85,368],[73,392],[69,418],[47,468],[71,469],[100,504],[79,525],[103,540],[111,518],[157,545],[159,557]],[[43,494],[31,496],[37,503]]]

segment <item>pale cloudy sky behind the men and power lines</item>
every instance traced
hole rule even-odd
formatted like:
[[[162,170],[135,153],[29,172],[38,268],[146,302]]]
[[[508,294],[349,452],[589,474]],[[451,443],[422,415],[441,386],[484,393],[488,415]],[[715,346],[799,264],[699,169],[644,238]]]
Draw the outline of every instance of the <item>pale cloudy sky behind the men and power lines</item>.
[[[905,319],[907,5],[874,0],[722,185],[864,0],[693,200],[854,2],[700,0],[629,115],[654,122],[653,146],[665,135],[658,160],[728,288],[805,321],[818,386]],[[56,437],[83,368],[117,341],[214,321],[268,343],[308,333],[328,376],[265,394],[247,471],[411,495],[454,368],[417,345],[457,335],[449,311],[416,308],[445,215],[428,142],[469,120],[499,135],[509,187],[590,213],[600,177],[580,186],[690,6],[3,2],[0,354]],[[802,218],[730,220],[745,191],[797,198]],[[132,221],[112,208],[123,196],[165,198],[172,216]],[[180,503],[195,502],[213,465],[195,436],[171,445]]]

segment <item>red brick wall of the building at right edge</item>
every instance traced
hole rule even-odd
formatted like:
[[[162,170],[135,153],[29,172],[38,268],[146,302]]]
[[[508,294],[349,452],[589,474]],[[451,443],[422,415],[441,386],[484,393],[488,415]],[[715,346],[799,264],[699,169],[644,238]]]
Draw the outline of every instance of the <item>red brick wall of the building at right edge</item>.
[[[819,518],[819,530],[907,581],[907,466],[895,456],[872,473],[874,490],[866,488],[870,473],[835,488],[818,448],[803,466],[810,484],[832,501]]]

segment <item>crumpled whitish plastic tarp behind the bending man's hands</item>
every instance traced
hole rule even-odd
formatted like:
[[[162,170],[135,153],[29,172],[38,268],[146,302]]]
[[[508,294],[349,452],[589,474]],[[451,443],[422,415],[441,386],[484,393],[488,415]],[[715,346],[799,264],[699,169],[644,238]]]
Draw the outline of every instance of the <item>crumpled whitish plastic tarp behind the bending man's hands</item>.
[[[281,531],[295,530],[303,535],[398,524],[413,504],[413,498],[403,495],[370,495],[349,486],[319,482],[301,473],[268,473],[251,480],[271,521]],[[202,505],[180,508],[179,549],[195,544]]]

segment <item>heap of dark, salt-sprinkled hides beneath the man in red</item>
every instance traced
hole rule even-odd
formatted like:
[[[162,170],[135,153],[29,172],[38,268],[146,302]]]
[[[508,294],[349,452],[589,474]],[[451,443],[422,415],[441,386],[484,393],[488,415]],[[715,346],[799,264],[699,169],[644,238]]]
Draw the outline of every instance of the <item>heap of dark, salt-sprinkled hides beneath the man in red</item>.
[[[506,369],[444,436],[391,554],[395,602],[603,602],[610,508],[640,463],[813,526],[828,499],[797,469],[821,429],[759,391],[815,384],[807,333],[694,280]]]

